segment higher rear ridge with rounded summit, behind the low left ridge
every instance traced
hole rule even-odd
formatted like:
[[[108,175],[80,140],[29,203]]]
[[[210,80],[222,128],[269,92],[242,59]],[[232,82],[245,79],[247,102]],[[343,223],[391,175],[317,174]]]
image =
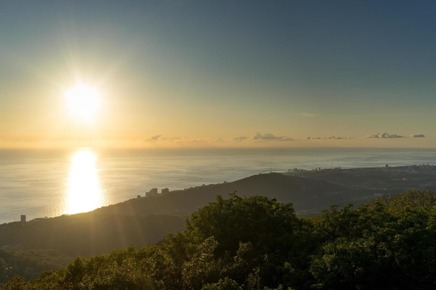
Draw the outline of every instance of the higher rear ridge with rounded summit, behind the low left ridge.
[[[170,191],[168,195],[159,197],[142,197],[127,200],[109,207],[102,207],[98,213],[123,213],[141,215],[145,213],[162,213],[168,211],[193,212],[217,195],[223,198],[228,193],[237,191],[238,196],[263,195],[275,197],[281,202],[292,202],[296,211],[320,210],[330,204],[354,202],[358,196],[368,196],[359,190],[335,185],[322,180],[285,176],[279,173],[258,174],[228,183],[210,184],[191,187],[185,190]],[[369,193],[371,194],[371,193]]]

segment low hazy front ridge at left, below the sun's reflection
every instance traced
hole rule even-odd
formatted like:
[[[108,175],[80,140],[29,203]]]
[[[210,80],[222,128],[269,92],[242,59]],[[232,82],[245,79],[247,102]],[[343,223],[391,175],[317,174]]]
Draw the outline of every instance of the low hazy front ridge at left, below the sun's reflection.
[[[0,225],[0,245],[55,249],[70,257],[109,253],[131,244],[145,246],[183,229],[184,218],[169,214],[129,216],[92,211]],[[66,264],[65,264],[66,265]],[[64,265],[64,266],[65,266]]]

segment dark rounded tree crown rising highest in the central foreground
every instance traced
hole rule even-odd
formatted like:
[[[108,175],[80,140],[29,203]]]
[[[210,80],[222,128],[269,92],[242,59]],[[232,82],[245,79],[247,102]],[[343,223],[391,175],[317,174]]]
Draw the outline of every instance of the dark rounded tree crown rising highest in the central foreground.
[[[291,203],[259,196],[241,198],[232,193],[229,199],[218,196],[215,203],[191,214],[186,228],[199,240],[215,237],[219,250],[234,254],[241,242],[262,247],[260,250],[287,249],[299,222]]]

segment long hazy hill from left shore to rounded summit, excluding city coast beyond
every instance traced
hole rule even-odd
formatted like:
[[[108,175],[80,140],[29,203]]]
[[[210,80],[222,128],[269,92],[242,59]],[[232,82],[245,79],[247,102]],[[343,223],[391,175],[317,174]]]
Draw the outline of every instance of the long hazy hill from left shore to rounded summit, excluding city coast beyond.
[[[159,197],[142,197],[108,207],[53,218],[38,218],[22,226],[19,222],[0,225],[0,246],[22,249],[56,249],[69,256],[107,253],[116,247],[156,243],[168,233],[183,229],[184,217],[199,207],[239,196],[268,196],[292,202],[296,211],[317,215],[330,204],[345,204],[368,193],[350,190],[322,180],[290,177],[279,173],[253,175],[229,183],[174,190]],[[367,194],[367,196],[365,196]]]

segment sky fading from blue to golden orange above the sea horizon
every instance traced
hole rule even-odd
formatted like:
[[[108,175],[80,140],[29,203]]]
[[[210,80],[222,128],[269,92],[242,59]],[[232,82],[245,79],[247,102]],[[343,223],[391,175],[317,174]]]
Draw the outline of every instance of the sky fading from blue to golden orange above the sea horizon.
[[[434,1],[3,0],[0,147],[435,147],[435,28]]]

